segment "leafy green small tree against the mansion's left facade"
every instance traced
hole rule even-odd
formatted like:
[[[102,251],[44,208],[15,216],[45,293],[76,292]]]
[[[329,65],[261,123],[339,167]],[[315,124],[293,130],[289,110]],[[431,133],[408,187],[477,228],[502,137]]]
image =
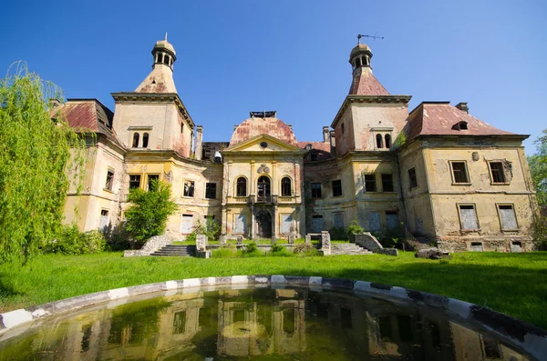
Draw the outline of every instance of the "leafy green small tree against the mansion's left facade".
[[[126,211],[125,229],[129,236],[144,243],[151,236],[162,234],[167,218],[177,210],[177,204],[170,196],[170,184],[156,179],[151,181],[149,191],[129,190],[128,201],[133,204]]]

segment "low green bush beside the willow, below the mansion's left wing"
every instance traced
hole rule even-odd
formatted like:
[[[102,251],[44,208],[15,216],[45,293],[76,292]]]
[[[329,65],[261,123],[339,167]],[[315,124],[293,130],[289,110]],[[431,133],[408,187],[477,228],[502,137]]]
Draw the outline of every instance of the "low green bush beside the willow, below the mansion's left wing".
[[[105,250],[107,241],[98,230],[80,232],[75,224],[64,226],[57,239],[48,242],[44,253],[85,255]]]

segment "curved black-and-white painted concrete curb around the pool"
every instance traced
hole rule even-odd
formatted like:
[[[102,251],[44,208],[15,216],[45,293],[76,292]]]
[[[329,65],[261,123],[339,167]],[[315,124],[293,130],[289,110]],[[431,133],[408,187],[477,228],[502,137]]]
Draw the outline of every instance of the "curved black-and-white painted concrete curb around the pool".
[[[532,356],[541,358],[547,355],[547,332],[537,326],[492,311],[488,308],[472,305],[457,299],[428,294],[397,286],[387,286],[364,281],[343,278],[325,278],[318,276],[221,276],[207,278],[187,278],[176,281],[159,282],[149,285],[130,286],[93,294],[76,296],[40,306],[32,306],[0,314],[0,335],[7,330],[22,326],[38,319],[54,316],[70,310],[94,306],[100,303],[139,296],[154,292],[172,294],[177,289],[192,288],[208,290],[212,286],[308,286],[314,291],[353,290],[356,296],[381,296],[395,298],[417,306],[429,306],[444,310],[453,316],[459,316],[479,323],[493,334],[511,340]]]

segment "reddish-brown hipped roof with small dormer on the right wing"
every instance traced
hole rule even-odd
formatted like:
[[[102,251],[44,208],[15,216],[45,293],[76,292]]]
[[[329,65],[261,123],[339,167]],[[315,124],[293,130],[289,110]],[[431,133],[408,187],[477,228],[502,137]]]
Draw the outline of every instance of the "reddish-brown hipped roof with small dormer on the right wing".
[[[466,122],[466,130],[455,125]],[[408,140],[418,135],[515,135],[469,115],[449,102],[421,103],[408,116]]]

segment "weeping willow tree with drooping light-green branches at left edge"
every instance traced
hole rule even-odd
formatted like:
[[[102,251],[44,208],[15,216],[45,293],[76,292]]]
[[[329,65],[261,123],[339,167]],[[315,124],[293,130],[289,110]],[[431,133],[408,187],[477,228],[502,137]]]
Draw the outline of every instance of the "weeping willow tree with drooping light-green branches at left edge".
[[[68,186],[81,184],[84,137],[50,99],[59,88],[25,65],[0,79],[0,262],[26,263],[57,236]]]

